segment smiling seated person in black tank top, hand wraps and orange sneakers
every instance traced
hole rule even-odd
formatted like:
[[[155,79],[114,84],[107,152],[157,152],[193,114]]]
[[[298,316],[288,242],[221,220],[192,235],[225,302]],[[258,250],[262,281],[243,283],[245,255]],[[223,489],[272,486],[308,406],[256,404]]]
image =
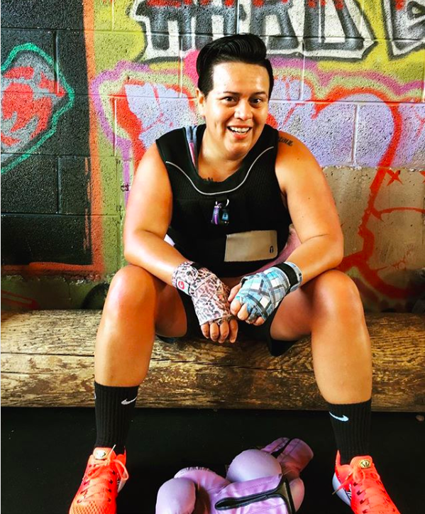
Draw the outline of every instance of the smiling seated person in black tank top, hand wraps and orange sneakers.
[[[209,43],[197,71],[205,125],[159,138],[133,182],[130,264],[112,280],[96,340],[97,439],[70,513],[116,512],[155,333],[222,343],[239,330],[274,355],[311,334],[338,447],[333,486],[355,513],[398,513],[368,456],[370,340],[357,288],[334,269],[343,236],[324,174],[297,138],[265,123],[273,75],[260,38]]]

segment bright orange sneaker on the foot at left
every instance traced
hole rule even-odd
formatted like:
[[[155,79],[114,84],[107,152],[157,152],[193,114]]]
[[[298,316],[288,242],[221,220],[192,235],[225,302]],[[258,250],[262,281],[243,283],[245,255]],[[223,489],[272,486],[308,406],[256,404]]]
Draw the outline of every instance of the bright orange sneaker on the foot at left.
[[[95,448],[89,456],[70,514],[116,514],[116,496],[128,479],[126,454]]]

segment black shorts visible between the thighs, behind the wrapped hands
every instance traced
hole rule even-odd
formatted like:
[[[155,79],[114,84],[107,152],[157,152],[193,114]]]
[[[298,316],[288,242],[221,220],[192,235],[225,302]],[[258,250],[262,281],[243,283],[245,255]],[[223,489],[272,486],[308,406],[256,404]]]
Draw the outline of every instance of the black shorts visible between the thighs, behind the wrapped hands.
[[[201,327],[199,327],[199,321],[197,315],[195,313],[192,299],[186,293],[177,290],[182,298],[182,302],[184,305],[184,310],[186,312],[187,319],[187,331],[186,334],[182,337],[163,337],[158,336],[159,339],[165,341],[166,343],[175,343],[182,339],[183,337],[191,337],[193,339],[204,337],[201,332]],[[277,339],[272,339],[270,336],[270,327],[272,326],[273,319],[275,318],[277,309],[272,312],[265,323],[260,325],[260,327],[255,327],[254,325],[240,322],[239,323],[239,332],[244,334],[249,339],[255,339],[257,341],[265,341],[267,343],[267,348],[270,351],[270,354],[274,357],[285,354],[285,351],[289,350],[289,348],[294,345],[297,341],[277,341]]]

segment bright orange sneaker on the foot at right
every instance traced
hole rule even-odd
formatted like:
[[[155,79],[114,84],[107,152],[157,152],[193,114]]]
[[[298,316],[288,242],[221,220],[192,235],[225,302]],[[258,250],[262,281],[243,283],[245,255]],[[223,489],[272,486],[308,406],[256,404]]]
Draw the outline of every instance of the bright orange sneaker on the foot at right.
[[[350,464],[340,464],[336,455],[332,485],[342,501],[351,506],[355,514],[400,514],[392,503],[377,474],[372,457],[354,457]]]

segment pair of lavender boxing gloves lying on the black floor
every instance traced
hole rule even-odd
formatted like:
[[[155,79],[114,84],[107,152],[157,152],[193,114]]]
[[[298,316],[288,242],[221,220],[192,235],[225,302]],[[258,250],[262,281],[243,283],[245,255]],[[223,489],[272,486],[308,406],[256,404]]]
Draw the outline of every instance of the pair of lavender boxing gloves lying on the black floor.
[[[226,479],[207,468],[182,469],[158,491],[155,513],[294,514],[304,498],[299,473],[312,456],[300,439],[281,437],[236,456]]]

